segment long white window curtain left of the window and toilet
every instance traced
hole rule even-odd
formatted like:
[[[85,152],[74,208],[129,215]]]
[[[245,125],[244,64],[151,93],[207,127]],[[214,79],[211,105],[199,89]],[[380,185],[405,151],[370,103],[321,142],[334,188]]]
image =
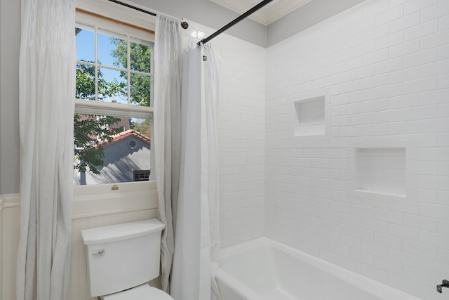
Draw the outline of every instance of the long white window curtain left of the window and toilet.
[[[18,300],[67,299],[74,157],[74,13],[74,0],[22,1]]]

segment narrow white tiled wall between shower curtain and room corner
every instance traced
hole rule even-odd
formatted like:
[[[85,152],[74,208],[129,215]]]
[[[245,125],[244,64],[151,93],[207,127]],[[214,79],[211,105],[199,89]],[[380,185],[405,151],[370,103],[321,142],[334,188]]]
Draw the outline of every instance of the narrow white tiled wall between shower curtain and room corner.
[[[225,247],[264,235],[266,49],[227,34],[213,47],[223,60],[218,155]]]

